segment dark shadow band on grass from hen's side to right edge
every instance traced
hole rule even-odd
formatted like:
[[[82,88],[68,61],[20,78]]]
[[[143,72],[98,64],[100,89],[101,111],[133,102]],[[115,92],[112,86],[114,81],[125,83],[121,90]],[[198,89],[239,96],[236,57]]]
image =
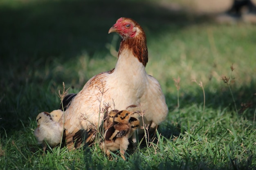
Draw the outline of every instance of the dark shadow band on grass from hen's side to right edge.
[[[256,82],[252,81],[250,84],[244,84],[240,88],[231,85],[231,91],[234,96],[238,115],[243,115],[249,120],[253,120],[254,111],[256,108],[256,93],[255,93]],[[205,106],[217,110],[218,108],[228,108],[228,111],[236,113],[235,104],[229,91],[227,84],[220,82],[219,87],[216,88],[216,92],[209,90],[209,87],[204,87],[205,91]],[[186,108],[197,104],[203,107],[204,96],[202,88],[195,87],[193,93],[180,93],[180,108]],[[177,108],[177,95],[168,93],[166,96],[166,104],[169,107],[169,111],[173,111]]]

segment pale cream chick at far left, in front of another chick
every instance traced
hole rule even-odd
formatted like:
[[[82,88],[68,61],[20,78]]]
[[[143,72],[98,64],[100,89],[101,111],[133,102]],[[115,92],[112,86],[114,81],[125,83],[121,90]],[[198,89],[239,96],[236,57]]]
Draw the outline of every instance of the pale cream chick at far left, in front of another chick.
[[[38,144],[43,144],[44,152],[47,147],[46,142],[53,147],[61,143],[63,126],[53,121],[49,113],[39,113],[36,117],[36,121],[37,128],[34,131],[34,135],[36,136]]]

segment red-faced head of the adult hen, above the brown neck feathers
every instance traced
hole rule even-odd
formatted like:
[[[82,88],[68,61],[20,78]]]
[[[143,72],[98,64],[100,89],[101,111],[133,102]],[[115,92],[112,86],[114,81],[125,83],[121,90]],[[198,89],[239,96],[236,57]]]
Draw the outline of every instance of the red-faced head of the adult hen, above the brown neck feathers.
[[[132,38],[142,31],[141,26],[135,20],[122,17],[109,29],[108,33],[116,32],[122,38]]]

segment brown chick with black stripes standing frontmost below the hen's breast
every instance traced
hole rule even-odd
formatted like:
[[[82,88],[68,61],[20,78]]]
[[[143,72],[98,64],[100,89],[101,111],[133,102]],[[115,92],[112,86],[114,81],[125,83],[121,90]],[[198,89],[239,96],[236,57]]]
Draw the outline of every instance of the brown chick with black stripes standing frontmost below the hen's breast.
[[[104,146],[101,145],[101,149],[105,150],[108,156],[110,151],[120,150],[121,157],[126,160],[124,154],[129,145],[129,134],[131,131],[130,117],[134,112],[128,110],[121,110],[117,112],[114,117],[114,121],[104,133]]]

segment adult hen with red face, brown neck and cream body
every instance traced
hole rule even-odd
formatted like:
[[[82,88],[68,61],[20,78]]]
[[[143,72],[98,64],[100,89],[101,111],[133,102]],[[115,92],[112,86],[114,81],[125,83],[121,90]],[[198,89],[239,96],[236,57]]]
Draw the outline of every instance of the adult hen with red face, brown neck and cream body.
[[[69,149],[79,147],[74,146],[74,141],[83,130],[88,132],[85,142],[94,140],[95,129],[104,118],[101,108],[106,105],[111,110],[124,110],[127,106],[140,104],[146,110],[144,123],[153,130],[168,114],[159,82],[145,70],[148,49],[141,26],[130,18],[119,18],[108,31],[112,32],[121,36],[115,68],[89,79],[83,89],[72,97],[60,119],[64,123]],[[144,131],[138,129],[138,133],[144,134]]]

